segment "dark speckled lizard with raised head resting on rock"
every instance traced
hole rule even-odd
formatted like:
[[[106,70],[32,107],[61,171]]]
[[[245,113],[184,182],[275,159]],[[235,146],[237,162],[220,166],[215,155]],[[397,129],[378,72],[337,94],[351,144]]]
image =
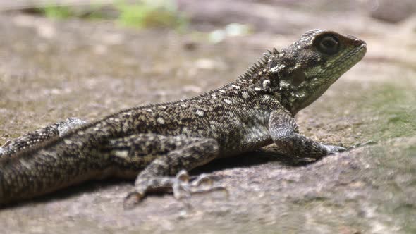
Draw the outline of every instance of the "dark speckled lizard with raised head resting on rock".
[[[301,135],[295,114],[366,51],[357,37],[309,30],[288,47],[267,50],[235,81],[209,92],[124,109],[91,123],[68,118],[10,140],[0,148],[0,204],[121,177],[135,178],[123,203],[134,207],[152,191],[173,191],[176,198],[197,192],[210,180],[202,174],[190,181],[192,168],[269,144],[288,156],[313,159],[344,152]]]

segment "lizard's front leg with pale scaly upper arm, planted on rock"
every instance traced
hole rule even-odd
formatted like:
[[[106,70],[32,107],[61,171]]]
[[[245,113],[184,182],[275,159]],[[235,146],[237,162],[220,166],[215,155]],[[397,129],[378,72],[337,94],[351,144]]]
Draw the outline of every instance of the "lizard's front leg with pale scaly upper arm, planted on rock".
[[[293,156],[319,159],[346,150],[344,147],[322,144],[300,135],[295,118],[288,113],[272,112],[269,118],[269,132],[279,149]]]

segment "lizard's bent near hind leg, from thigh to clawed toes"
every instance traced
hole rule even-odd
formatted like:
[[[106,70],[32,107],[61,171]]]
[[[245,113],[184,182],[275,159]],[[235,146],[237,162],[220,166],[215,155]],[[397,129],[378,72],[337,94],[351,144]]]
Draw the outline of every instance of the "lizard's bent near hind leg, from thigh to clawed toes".
[[[122,168],[144,168],[135,180],[135,189],[126,197],[126,208],[133,207],[153,191],[173,191],[174,197],[180,199],[193,192],[225,190],[212,187],[212,181],[205,175],[190,182],[186,172],[219,155],[214,139],[141,134],[114,140],[106,147]],[[200,189],[204,183],[209,186]]]

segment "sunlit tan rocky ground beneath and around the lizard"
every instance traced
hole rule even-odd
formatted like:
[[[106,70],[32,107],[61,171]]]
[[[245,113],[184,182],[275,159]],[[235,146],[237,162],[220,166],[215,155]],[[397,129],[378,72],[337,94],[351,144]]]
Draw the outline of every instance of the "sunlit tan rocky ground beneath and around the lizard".
[[[316,162],[281,156],[271,146],[192,171],[226,186],[228,199],[221,192],[181,201],[155,195],[125,211],[132,181],[85,183],[1,209],[1,230],[415,233],[416,18],[386,23],[348,4],[318,11],[286,1],[224,8],[207,2],[181,1],[192,20],[183,34],[2,13],[0,144],[71,116],[90,121],[129,106],[191,97],[234,80],[264,49],[283,47],[316,27],[360,37],[368,52],[298,114],[301,131],[345,147],[372,144]],[[218,44],[195,33],[233,22],[254,30]]]

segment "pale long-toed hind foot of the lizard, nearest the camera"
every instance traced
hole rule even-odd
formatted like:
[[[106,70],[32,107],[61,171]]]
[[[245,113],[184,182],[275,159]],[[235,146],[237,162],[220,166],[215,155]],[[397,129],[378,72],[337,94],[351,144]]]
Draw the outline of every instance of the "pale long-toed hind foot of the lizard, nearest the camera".
[[[143,185],[143,187],[142,187]],[[144,192],[141,192],[144,191]],[[202,174],[190,181],[190,176],[185,170],[179,171],[174,178],[155,178],[147,180],[147,183],[140,183],[137,189],[130,192],[124,199],[124,209],[132,209],[136,204],[140,203],[148,191],[173,191],[173,197],[183,199],[190,197],[192,194],[207,193],[214,191],[222,191],[228,197],[226,187],[213,186],[212,179],[206,174]]]

